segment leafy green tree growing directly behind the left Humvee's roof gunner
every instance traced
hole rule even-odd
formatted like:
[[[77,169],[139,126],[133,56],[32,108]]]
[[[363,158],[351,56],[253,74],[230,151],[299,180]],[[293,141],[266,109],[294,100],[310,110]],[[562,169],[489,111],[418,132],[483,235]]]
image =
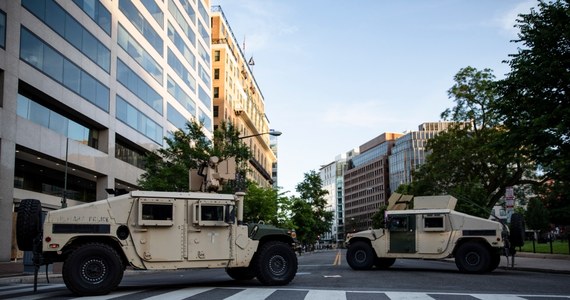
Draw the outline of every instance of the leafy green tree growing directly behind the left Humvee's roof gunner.
[[[190,169],[197,169],[211,156],[221,160],[236,157],[243,162],[251,157],[247,146],[239,140],[239,131],[230,123],[224,123],[214,131],[213,143],[195,121],[186,123],[186,130],[172,132],[165,137],[166,147],[147,153],[145,173],[138,181],[143,190],[186,192],[189,190]]]

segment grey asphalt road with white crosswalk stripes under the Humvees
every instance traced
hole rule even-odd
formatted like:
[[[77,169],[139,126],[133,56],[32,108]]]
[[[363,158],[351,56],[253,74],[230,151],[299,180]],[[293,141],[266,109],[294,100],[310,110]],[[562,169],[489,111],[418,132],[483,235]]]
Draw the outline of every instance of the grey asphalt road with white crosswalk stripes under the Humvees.
[[[255,279],[234,281],[220,269],[133,271],[116,291],[95,299],[570,299],[568,274],[497,269],[470,275],[459,273],[452,261],[423,260],[397,260],[389,270],[354,271],[344,252],[340,259],[337,254],[299,256],[297,276],[284,287],[265,287]],[[37,294],[31,293],[31,285],[0,285],[0,299],[30,297],[71,299],[73,295],[60,279],[41,284]]]

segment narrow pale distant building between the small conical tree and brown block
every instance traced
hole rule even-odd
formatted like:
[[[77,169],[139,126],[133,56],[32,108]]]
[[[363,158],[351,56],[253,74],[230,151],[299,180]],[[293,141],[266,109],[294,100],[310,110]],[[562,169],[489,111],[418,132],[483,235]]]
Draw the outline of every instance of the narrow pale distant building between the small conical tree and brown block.
[[[346,163],[358,154],[358,149],[337,155],[335,160],[321,166],[319,174],[323,182],[323,189],[328,191],[327,208],[333,212],[331,230],[321,239],[325,243],[342,245],[344,232],[344,172]]]

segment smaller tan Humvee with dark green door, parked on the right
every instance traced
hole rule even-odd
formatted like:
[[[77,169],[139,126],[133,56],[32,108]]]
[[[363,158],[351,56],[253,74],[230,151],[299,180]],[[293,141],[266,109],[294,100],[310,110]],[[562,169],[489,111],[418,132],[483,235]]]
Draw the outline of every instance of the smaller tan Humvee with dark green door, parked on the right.
[[[388,203],[385,228],[349,236],[346,260],[352,269],[387,269],[404,258],[454,257],[461,272],[484,273],[499,266],[501,255],[514,255],[514,247],[523,241],[518,216],[510,233],[503,223],[455,211],[457,199],[452,196],[394,193]]]

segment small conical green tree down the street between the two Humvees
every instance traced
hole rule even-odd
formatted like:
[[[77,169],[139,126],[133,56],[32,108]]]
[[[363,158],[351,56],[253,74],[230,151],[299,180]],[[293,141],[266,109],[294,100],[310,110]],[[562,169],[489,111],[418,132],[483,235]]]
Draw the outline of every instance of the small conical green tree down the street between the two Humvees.
[[[333,212],[326,210],[327,190],[317,172],[305,173],[303,182],[297,184],[299,198],[293,201],[293,221],[297,237],[306,244],[313,244],[320,235],[330,231]]]

